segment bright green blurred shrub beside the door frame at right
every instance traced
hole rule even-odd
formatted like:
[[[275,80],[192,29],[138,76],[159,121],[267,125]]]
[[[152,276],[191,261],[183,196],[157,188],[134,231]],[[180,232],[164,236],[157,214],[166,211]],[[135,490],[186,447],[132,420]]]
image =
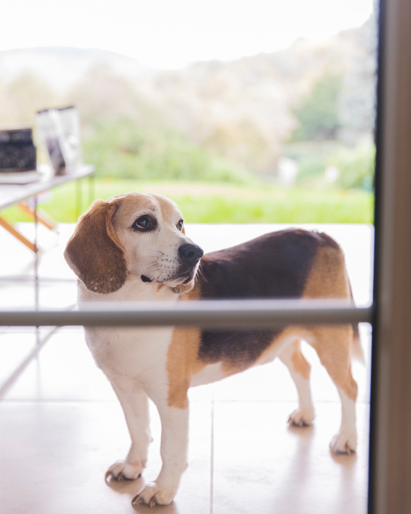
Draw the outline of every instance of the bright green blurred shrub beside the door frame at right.
[[[359,143],[355,148],[341,147],[329,159],[328,164],[340,170],[338,185],[343,189],[371,189],[375,166],[375,146],[370,142]]]

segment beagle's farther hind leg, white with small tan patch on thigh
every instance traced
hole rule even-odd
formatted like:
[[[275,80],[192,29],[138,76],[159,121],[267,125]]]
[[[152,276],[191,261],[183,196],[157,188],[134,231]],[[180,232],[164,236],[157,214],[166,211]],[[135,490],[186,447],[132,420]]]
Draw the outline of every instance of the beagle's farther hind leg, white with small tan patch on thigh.
[[[312,425],[314,406],[312,405],[310,389],[311,366],[301,352],[300,339],[295,339],[288,344],[279,354],[279,358],[290,371],[298,392],[298,409],[290,414],[288,424],[296,427]]]

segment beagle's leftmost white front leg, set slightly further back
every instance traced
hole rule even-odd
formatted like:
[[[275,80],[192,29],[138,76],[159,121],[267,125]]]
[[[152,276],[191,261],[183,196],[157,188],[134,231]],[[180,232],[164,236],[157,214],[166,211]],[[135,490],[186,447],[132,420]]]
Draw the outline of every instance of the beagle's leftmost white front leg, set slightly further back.
[[[152,440],[148,397],[136,386],[133,390],[123,391],[115,384],[112,385],[123,408],[132,445],[125,461],[118,461],[110,466],[105,478],[107,480],[111,476],[116,480],[136,480],[145,468],[148,445]]]

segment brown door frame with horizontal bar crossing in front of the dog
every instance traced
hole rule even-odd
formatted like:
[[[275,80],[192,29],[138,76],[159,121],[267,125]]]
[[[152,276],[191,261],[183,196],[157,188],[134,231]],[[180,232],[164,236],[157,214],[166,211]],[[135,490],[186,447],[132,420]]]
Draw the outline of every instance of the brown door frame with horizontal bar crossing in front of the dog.
[[[411,512],[411,1],[380,0],[375,173],[375,267],[373,306],[311,305],[298,301],[281,308],[259,306],[248,301],[230,302],[221,311],[204,318],[197,303],[197,318],[184,302],[178,313],[180,326],[195,321],[201,326],[221,328],[243,321],[244,327],[263,326],[264,318],[277,322],[288,312],[287,321],[307,323],[372,323],[369,494],[370,514]],[[204,302],[203,302],[204,303]],[[227,302],[226,302],[227,303]],[[243,302],[244,303],[244,302]],[[134,310],[133,310],[134,309]],[[163,309],[163,312],[161,310]],[[190,309],[192,309],[190,311]],[[407,310],[408,309],[408,310]],[[170,324],[171,313],[152,308],[151,325]],[[110,325],[124,324],[125,317],[141,314],[139,307],[111,311]],[[76,325],[90,322],[92,311],[0,311],[0,325]],[[99,313],[95,311],[98,316]],[[102,313],[107,319],[107,312]],[[174,313],[175,315],[175,313]],[[201,318],[203,316],[203,318]],[[160,319],[163,321],[160,323]],[[202,319],[202,321],[201,321]],[[230,321],[231,319],[231,321]],[[137,323],[137,318],[127,324]],[[214,320],[214,321],[213,321]],[[237,320],[237,321],[233,321]],[[259,321],[258,321],[259,320]],[[101,317],[100,317],[101,323]],[[94,323],[96,324],[96,323]],[[231,325],[230,325],[231,326]]]

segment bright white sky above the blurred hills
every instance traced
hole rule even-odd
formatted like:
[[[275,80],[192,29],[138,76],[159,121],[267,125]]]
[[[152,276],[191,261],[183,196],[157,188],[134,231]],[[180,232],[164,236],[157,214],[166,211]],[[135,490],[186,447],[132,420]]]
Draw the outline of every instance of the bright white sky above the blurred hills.
[[[232,60],[356,27],[373,0],[0,0],[0,51],[101,48],[156,68]]]

